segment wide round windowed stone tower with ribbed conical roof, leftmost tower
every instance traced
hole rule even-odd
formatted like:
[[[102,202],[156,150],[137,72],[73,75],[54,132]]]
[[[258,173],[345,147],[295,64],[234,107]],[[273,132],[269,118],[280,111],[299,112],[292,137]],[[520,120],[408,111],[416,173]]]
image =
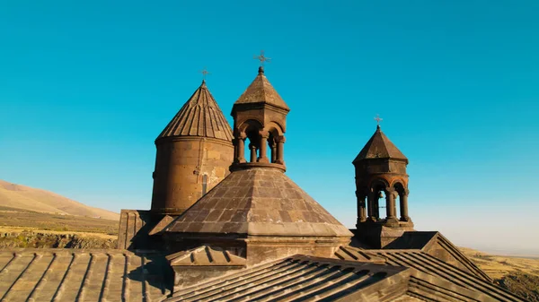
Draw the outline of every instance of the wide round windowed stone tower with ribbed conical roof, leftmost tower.
[[[223,180],[233,160],[232,138],[202,81],[155,140],[152,212],[179,215]]]

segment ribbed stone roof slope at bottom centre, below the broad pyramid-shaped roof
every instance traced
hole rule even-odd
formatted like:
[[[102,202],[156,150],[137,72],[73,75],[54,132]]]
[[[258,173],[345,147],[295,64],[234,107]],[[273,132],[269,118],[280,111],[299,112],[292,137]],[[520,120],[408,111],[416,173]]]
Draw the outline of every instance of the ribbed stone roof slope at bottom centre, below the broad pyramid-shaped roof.
[[[406,292],[407,271],[296,255],[179,290],[165,301],[380,301]]]

